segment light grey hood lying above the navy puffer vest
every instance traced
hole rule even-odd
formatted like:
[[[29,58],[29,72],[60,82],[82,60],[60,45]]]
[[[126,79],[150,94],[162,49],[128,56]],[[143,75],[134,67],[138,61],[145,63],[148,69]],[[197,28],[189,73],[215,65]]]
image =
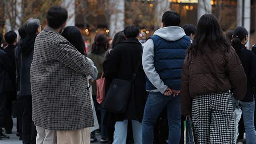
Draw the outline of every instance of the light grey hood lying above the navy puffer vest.
[[[179,26],[167,26],[157,29],[157,31],[154,32],[154,35],[157,35],[168,41],[176,41],[184,37],[186,34],[184,29]]]

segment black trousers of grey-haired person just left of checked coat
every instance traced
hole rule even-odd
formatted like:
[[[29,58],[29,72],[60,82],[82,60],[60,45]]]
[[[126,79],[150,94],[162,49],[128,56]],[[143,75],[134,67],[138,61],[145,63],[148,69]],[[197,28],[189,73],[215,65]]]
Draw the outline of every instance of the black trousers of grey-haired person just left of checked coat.
[[[35,144],[37,131],[32,121],[32,96],[23,96],[24,112],[22,116],[23,144]]]

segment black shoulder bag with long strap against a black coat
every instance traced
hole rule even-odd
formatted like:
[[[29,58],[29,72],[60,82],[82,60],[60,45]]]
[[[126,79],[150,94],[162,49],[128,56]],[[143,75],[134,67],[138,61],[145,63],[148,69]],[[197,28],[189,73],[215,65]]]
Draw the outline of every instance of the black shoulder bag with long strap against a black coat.
[[[108,93],[106,95],[105,101],[102,105],[102,107],[105,110],[113,113],[126,112],[128,101],[131,95],[131,89],[133,87],[134,79],[139,69],[141,59],[142,58],[140,57],[140,60],[138,60],[138,63],[134,70],[131,81],[113,78],[113,80],[111,81],[110,87],[108,89]]]

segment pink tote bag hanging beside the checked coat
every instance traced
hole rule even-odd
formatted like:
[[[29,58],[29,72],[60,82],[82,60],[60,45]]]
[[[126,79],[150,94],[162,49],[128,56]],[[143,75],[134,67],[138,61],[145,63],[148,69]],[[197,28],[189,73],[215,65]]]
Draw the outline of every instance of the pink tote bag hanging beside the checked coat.
[[[103,76],[104,72],[102,72]],[[99,104],[103,103],[105,100],[105,86],[106,86],[106,79],[105,78],[99,78],[96,80],[96,85],[97,85],[97,95],[96,95],[96,100]]]

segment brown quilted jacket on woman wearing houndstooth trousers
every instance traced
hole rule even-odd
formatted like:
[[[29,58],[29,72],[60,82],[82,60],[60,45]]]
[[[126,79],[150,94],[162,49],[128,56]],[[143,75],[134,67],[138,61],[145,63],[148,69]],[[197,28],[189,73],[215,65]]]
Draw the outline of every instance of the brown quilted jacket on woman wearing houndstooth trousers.
[[[232,46],[229,52],[210,50],[204,54],[189,53],[183,63],[181,74],[180,103],[183,115],[191,114],[192,98],[208,93],[232,90],[234,98],[244,98],[247,77]]]

